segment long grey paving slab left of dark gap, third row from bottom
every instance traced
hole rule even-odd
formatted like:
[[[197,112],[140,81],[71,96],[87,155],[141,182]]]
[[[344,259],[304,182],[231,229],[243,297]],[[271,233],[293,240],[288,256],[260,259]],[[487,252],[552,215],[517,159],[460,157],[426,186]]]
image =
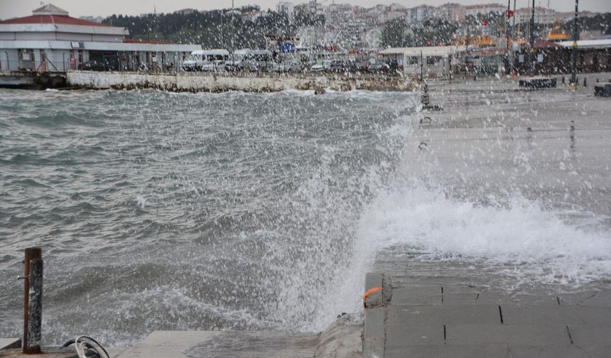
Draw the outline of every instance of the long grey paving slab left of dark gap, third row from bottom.
[[[386,308],[388,325],[501,324],[498,306],[397,305]]]

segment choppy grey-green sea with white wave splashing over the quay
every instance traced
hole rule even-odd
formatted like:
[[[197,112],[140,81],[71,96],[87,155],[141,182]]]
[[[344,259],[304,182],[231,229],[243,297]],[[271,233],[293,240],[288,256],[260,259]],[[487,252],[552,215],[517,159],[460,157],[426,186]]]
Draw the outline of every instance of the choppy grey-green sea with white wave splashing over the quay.
[[[20,332],[27,246],[43,247],[55,344],[323,330],[359,310],[364,273],[392,244],[512,262],[534,281],[550,280],[541,263],[552,280],[611,276],[608,228],[522,197],[473,205],[397,170],[414,94],[0,97],[0,336]],[[558,238],[563,251],[550,250]]]

